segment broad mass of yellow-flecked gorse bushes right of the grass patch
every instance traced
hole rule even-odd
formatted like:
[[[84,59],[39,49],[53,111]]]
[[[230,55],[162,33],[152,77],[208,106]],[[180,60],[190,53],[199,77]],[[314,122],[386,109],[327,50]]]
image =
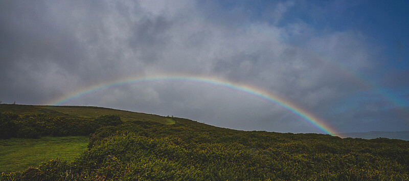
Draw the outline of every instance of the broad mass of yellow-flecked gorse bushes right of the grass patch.
[[[73,163],[75,172],[114,180],[409,178],[406,141],[237,131],[179,123],[135,122],[101,128],[92,135],[90,149]]]

